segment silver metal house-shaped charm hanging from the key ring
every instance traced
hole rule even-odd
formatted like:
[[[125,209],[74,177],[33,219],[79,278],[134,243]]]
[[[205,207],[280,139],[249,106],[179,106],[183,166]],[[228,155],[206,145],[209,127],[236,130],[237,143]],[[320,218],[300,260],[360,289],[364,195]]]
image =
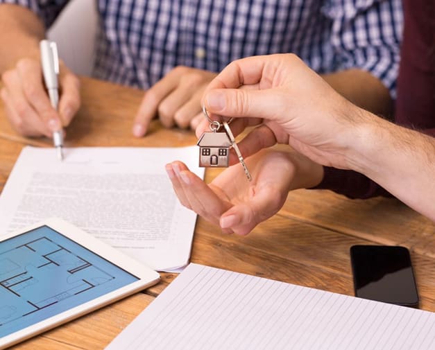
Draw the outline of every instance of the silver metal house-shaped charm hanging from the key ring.
[[[232,142],[226,132],[204,132],[196,145],[199,146],[199,166],[228,167]]]

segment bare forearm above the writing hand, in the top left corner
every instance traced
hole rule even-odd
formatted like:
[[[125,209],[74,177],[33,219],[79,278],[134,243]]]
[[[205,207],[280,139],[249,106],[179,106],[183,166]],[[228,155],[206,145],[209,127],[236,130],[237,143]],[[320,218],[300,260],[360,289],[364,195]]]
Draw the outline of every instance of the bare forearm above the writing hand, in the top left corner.
[[[20,58],[39,58],[39,42],[45,29],[38,17],[22,6],[0,5],[0,73],[15,66]]]

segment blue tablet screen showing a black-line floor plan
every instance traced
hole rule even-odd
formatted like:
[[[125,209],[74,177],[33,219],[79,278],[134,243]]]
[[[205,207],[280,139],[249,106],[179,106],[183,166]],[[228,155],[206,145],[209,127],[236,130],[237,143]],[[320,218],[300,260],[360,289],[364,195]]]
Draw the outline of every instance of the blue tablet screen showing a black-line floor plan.
[[[137,281],[48,226],[0,242],[0,338]]]

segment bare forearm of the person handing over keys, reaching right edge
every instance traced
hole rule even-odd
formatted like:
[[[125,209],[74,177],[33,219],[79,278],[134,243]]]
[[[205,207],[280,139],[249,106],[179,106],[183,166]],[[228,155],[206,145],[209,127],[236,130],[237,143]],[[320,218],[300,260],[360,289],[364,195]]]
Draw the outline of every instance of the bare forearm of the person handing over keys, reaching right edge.
[[[350,140],[348,167],[435,220],[435,139],[367,113]]]

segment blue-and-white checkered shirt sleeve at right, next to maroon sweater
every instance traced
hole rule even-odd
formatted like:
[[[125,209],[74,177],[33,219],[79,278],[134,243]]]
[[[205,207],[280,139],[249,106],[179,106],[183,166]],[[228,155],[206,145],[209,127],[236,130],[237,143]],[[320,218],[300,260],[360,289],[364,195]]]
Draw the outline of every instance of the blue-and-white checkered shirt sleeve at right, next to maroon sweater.
[[[334,69],[369,71],[395,98],[403,29],[402,1],[332,0],[323,12],[332,20],[330,44],[335,54]]]

